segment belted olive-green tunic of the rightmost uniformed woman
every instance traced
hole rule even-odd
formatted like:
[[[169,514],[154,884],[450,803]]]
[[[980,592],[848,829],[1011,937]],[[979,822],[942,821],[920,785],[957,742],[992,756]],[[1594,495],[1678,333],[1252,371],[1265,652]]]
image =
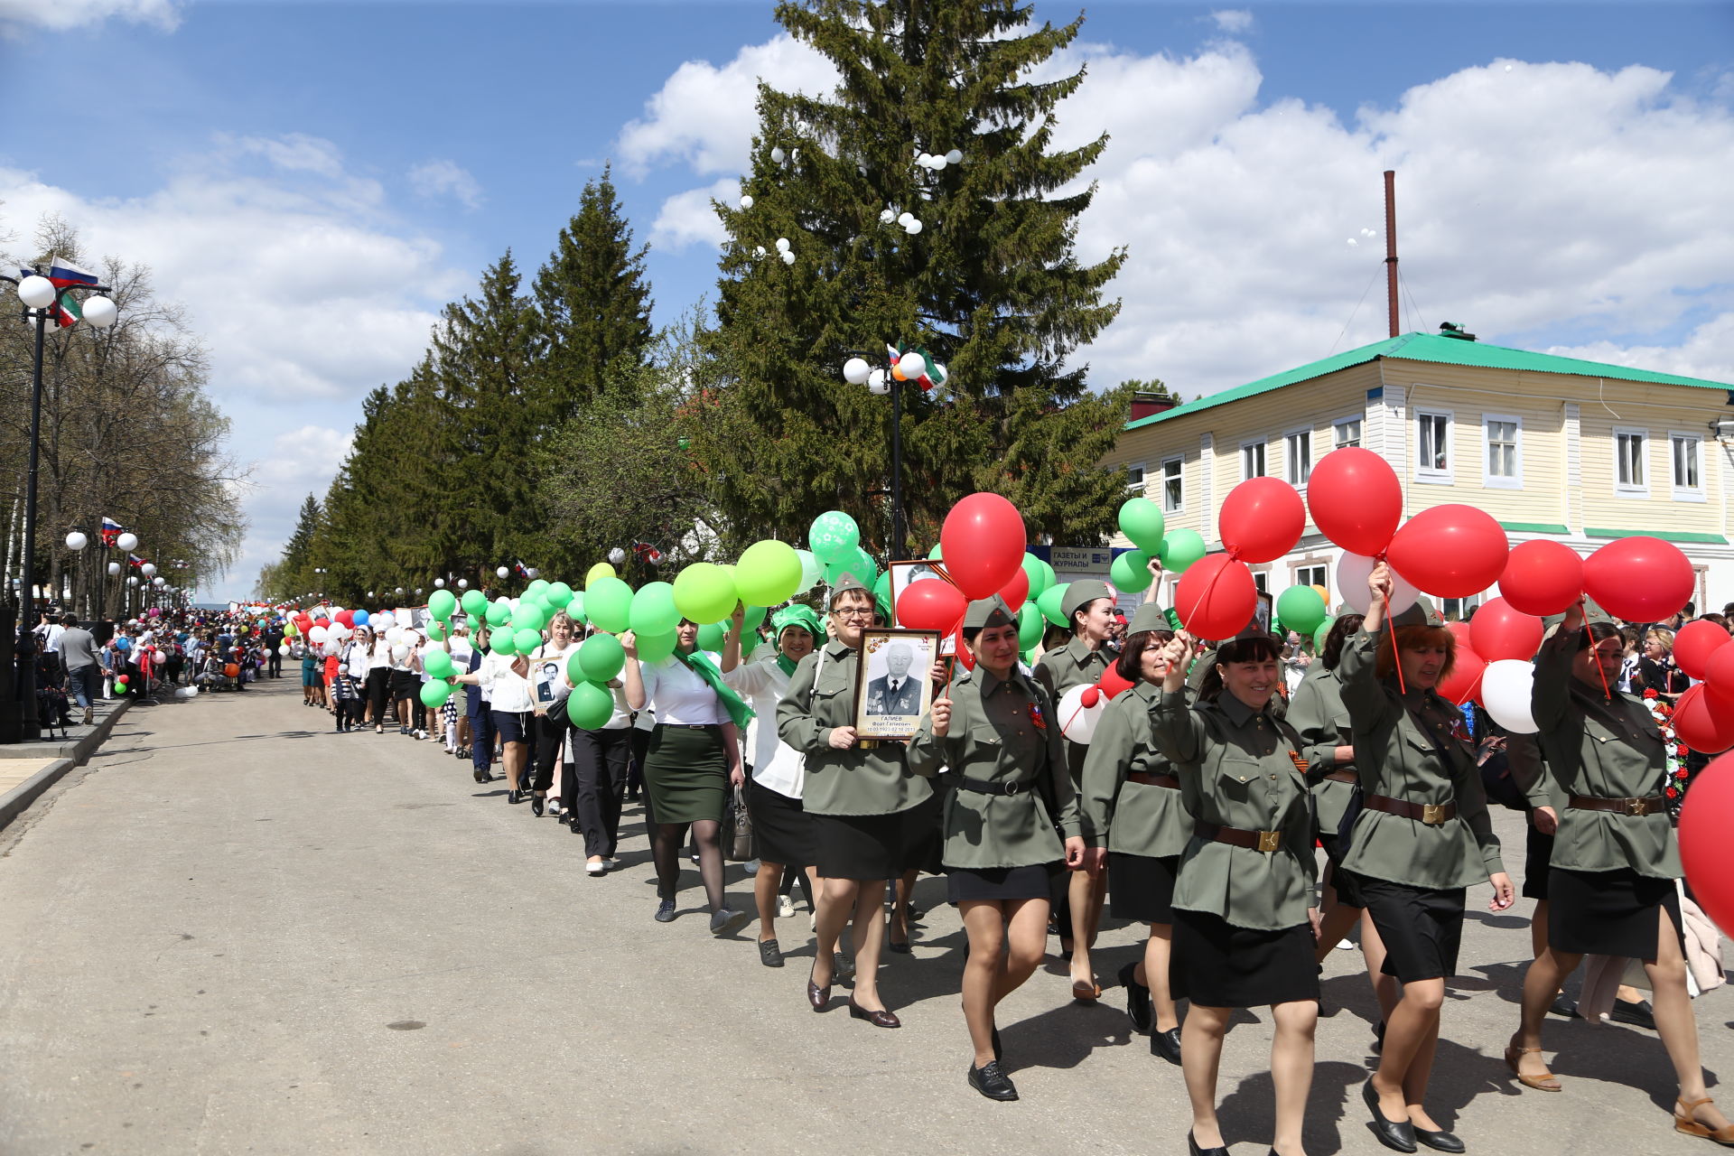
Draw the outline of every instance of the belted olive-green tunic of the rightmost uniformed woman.
[[[1542,728],[1542,750],[1564,796],[1644,799],[1668,787],[1668,757],[1661,730],[1635,695],[1590,688],[1571,674],[1583,636],[1555,633],[1536,659],[1533,711]],[[1547,801],[1547,799],[1543,799]],[[1554,867],[1574,872],[1632,868],[1653,879],[1679,879],[1680,846],[1666,808],[1651,815],[1620,811],[1559,813]]]

